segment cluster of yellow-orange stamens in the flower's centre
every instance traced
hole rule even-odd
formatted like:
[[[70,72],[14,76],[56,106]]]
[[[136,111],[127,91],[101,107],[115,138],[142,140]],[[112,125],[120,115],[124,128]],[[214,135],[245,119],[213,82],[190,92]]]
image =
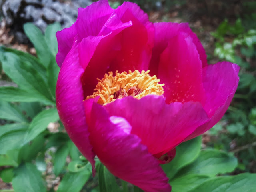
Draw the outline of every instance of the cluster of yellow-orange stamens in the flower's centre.
[[[149,70],[141,73],[138,70],[129,70],[128,73],[116,71],[116,76],[113,76],[113,72],[108,72],[103,79],[97,78],[99,82],[94,89],[95,92],[86,99],[100,96],[98,104],[103,105],[127,96],[140,99],[148,94],[164,94],[164,84],[158,84],[160,79],[155,75],[151,77],[148,73]]]

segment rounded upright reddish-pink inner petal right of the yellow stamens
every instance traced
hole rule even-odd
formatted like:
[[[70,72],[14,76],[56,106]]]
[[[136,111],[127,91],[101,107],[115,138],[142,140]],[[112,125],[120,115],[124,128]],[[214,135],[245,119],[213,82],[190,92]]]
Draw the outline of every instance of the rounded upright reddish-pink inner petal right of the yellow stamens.
[[[157,77],[164,83],[166,102],[201,102],[205,93],[202,62],[190,36],[179,33],[171,38],[159,60]]]

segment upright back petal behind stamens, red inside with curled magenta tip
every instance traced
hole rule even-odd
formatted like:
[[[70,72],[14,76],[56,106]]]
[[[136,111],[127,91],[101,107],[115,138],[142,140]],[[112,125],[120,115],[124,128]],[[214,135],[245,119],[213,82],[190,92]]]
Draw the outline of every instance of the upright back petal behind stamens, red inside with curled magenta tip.
[[[124,2],[115,10],[122,22],[132,22],[132,26],[122,32],[122,48],[113,60],[109,71],[147,70],[154,43],[154,26],[138,5]]]

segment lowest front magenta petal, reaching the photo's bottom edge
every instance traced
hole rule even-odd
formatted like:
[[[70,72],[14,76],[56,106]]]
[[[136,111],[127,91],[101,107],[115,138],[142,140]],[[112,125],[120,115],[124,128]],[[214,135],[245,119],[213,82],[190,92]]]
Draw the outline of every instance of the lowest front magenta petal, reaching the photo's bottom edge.
[[[112,174],[145,192],[171,191],[158,160],[138,136],[129,134],[130,124],[124,118],[110,117],[93,99],[85,100],[84,107],[93,151]]]

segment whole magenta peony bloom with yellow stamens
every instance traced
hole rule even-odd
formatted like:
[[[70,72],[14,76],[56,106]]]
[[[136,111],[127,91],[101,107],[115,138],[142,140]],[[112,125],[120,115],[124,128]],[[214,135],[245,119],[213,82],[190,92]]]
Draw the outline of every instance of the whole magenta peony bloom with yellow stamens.
[[[188,24],[152,24],[130,2],[80,8],[76,22],[56,36],[58,112],[93,172],[97,155],[142,190],[170,192],[159,163],[220,120],[239,67],[208,65]]]

